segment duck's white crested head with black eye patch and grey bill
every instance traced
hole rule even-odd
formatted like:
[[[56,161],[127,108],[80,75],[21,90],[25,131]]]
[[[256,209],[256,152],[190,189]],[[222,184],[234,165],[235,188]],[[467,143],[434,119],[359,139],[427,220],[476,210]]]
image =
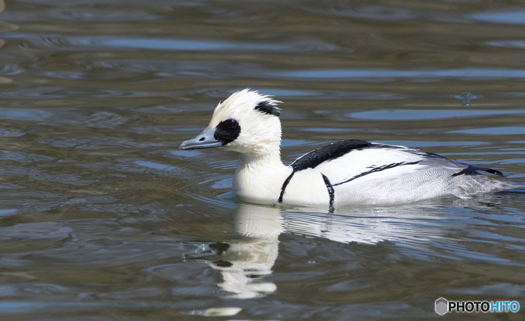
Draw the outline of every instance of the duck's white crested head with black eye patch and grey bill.
[[[202,149],[224,146],[241,153],[265,153],[279,150],[281,123],[280,101],[249,89],[237,91],[219,102],[208,127],[195,138],[182,142],[178,149]]]

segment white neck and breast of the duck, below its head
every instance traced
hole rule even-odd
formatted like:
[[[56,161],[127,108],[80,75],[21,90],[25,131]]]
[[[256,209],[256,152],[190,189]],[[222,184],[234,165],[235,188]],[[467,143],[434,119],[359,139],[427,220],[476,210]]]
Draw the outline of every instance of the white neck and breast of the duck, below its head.
[[[279,148],[239,155],[233,182],[235,194],[250,203],[276,203],[282,183],[291,173],[281,161]]]

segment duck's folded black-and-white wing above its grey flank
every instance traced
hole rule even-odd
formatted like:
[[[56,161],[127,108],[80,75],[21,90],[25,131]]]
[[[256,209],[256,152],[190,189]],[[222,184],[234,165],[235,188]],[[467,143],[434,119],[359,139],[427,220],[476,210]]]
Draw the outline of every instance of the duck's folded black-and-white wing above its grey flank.
[[[493,174],[501,172],[474,167],[449,160],[438,154],[418,148],[371,143],[362,140],[345,140],[304,154],[292,164],[294,172],[314,168],[328,178],[332,185],[372,178],[395,177],[430,167],[449,169],[452,175],[478,174],[484,170]]]

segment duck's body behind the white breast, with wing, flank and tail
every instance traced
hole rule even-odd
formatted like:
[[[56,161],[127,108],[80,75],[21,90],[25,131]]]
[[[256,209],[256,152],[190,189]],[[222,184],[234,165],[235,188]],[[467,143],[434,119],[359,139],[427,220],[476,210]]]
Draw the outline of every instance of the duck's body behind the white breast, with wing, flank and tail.
[[[468,197],[512,188],[487,171],[417,148],[362,140],[334,142],[292,164],[279,202],[293,204],[406,203],[446,195]]]

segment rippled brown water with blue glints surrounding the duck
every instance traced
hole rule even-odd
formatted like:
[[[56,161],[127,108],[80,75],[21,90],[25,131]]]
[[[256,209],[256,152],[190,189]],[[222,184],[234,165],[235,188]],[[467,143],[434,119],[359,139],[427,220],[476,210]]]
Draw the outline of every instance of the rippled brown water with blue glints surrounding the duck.
[[[525,194],[243,204],[236,156],[178,151],[246,87],[290,162],[421,147],[525,181],[519,1],[0,0],[0,318],[430,319],[519,301]]]

